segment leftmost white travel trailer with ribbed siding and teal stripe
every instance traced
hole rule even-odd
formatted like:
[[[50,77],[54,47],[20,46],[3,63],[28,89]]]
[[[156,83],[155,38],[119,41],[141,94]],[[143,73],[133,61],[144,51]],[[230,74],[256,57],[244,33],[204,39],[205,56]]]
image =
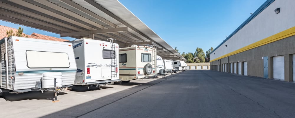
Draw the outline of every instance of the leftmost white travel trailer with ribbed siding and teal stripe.
[[[0,92],[59,91],[74,84],[71,43],[11,36],[0,47]]]

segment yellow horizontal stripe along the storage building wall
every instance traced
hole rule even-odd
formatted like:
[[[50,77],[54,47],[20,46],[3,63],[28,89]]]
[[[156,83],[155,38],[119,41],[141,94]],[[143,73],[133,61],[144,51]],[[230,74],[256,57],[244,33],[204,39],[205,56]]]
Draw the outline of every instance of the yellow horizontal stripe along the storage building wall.
[[[235,55],[235,54],[237,54],[237,53],[241,53],[241,52],[244,52],[244,51],[247,51],[247,50],[253,49],[253,48],[255,48],[255,47],[259,47],[259,46],[262,46],[262,45],[266,45],[266,44],[268,44],[268,43],[275,42],[275,41],[278,41],[278,40],[281,40],[281,39],[284,39],[284,38],[287,38],[287,37],[291,37],[291,36],[293,36],[293,35],[295,35],[295,27],[292,27],[292,28],[290,28],[290,29],[288,29],[288,30],[285,30],[285,31],[280,32],[280,33],[277,33],[277,34],[272,35],[272,36],[270,36],[270,37],[267,37],[267,38],[265,38],[265,39],[263,39],[263,40],[260,40],[260,41],[254,42],[254,43],[252,43],[252,44],[250,44],[250,45],[247,45],[247,46],[245,46],[245,47],[242,47],[242,48],[240,48],[240,49],[238,49],[238,50],[235,50],[235,51],[233,51],[233,52],[231,52],[231,53],[228,53],[228,54],[226,54],[226,55],[223,55],[223,56],[221,56],[221,57],[218,57],[218,58],[215,58],[215,59],[213,59],[213,60],[210,60],[210,62],[212,62],[212,61],[216,61],[216,60],[219,60],[219,59],[222,59],[222,58],[225,58],[225,57],[231,56],[231,55]]]

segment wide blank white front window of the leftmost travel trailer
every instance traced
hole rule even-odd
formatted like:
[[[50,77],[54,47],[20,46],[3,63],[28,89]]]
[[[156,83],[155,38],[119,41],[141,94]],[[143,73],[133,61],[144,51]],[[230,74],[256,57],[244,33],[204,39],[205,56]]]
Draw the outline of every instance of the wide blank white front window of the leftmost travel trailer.
[[[69,68],[70,61],[67,53],[27,51],[29,68]]]

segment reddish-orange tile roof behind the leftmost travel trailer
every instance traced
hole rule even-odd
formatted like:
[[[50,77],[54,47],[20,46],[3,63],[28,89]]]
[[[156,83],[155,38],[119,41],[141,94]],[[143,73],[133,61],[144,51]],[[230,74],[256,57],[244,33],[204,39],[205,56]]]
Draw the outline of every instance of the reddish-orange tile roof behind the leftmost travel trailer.
[[[13,32],[17,31],[17,29],[15,28],[0,25],[0,39],[7,37],[7,34],[6,34],[7,30],[12,30]],[[69,41],[69,40],[65,40],[65,39],[61,39],[57,37],[51,37],[47,35],[41,35],[37,33],[32,33],[31,35],[27,35],[27,34],[24,34],[24,35],[27,36],[28,38],[34,38],[34,39],[53,40],[53,41],[60,41],[60,42]]]

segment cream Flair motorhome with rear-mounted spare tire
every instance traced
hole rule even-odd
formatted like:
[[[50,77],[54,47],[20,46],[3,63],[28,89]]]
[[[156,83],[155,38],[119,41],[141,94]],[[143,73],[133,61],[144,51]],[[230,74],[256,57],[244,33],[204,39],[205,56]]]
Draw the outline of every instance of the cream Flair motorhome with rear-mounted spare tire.
[[[155,67],[155,46],[132,45],[119,49],[119,78],[122,81],[157,78]]]

